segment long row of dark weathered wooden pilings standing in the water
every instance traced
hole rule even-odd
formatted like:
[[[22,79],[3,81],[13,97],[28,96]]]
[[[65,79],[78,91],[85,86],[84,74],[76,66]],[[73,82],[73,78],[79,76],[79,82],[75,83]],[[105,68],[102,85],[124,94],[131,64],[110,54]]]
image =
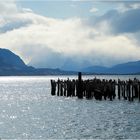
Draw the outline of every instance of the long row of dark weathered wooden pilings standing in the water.
[[[119,100],[140,101],[140,81],[136,78],[127,81],[97,78],[82,80],[79,72],[78,80],[51,80],[51,95],[111,101],[117,97]]]

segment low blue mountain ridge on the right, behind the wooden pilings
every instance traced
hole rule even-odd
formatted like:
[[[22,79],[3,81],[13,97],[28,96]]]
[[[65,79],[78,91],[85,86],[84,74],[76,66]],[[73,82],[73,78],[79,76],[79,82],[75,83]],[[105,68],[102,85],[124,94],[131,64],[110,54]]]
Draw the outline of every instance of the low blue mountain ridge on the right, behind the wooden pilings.
[[[112,67],[91,66],[84,68],[83,72],[98,74],[134,74],[140,73],[140,61],[127,62]]]

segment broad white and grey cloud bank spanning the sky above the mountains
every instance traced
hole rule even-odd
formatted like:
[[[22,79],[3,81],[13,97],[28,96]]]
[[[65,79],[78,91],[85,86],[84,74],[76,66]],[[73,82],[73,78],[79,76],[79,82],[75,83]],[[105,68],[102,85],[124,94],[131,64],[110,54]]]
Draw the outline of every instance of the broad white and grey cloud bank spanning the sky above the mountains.
[[[19,9],[16,14],[2,18],[0,46],[35,67],[79,69],[138,60],[140,47],[135,35],[140,31],[139,26],[131,23],[139,23],[137,14],[140,15],[138,9],[110,11],[94,18],[91,26],[78,17],[55,19]]]

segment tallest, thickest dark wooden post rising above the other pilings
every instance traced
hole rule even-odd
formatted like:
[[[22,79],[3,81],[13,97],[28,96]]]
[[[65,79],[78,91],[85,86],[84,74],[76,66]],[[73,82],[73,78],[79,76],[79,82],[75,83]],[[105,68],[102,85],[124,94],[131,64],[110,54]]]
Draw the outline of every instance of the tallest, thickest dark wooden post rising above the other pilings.
[[[82,92],[82,73],[78,73],[78,83],[77,83],[77,97],[79,99],[83,98],[83,92]]]

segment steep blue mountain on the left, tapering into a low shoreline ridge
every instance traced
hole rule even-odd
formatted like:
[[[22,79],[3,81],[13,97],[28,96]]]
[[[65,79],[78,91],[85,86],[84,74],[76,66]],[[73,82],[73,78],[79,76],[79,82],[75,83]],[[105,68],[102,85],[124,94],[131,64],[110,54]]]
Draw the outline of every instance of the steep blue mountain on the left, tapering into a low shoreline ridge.
[[[23,60],[8,49],[0,48],[0,75],[62,75],[75,74],[72,71],[62,71],[60,69],[39,68],[27,66]]]

